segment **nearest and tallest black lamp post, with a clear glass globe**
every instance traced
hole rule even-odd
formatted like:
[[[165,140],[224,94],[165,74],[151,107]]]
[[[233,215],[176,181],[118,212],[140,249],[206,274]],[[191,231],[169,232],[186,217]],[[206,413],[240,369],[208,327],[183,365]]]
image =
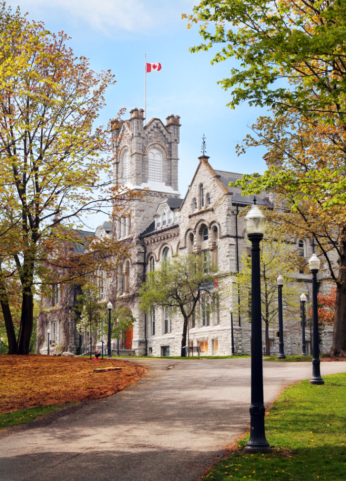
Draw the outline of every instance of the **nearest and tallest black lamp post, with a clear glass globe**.
[[[254,205],[244,217],[246,232],[251,241],[251,430],[245,446],[247,452],[271,451],[264,432],[263,367],[262,367],[262,326],[260,313],[260,249],[263,238],[265,217]]]

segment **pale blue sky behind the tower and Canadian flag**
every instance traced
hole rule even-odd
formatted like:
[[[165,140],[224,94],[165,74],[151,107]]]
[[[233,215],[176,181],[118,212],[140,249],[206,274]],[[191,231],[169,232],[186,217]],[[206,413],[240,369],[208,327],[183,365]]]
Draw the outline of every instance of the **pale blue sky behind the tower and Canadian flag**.
[[[185,195],[201,155],[216,170],[263,173],[264,151],[256,148],[237,157],[235,146],[250,133],[250,126],[265,110],[246,103],[231,110],[230,92],[217,81],[228,77],[232,60],[211,65],[213,51],[189,52],[201,43],[198,28],[187,29],[181,13],[191,13],[197,0],[8,0],[7,6],[28,12],[51,32],[63,30],[77,56],[90,59],[95,71],[111,70],[117,83],[108,88],[100,122],[125,107],[124,119],[134,107],[144,108],[144,54],[149,63],[160,62],[159,72],[147,74],[147,113],[166,123],[180,116],[179,191]]]

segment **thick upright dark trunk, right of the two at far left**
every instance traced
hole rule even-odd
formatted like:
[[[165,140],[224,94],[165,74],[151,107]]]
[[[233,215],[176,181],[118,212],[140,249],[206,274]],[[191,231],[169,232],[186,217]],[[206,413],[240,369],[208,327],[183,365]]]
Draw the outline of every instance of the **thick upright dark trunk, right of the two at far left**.
[[[29,354],[30,340],[34,327],[34,298],[32,279],[23,288],[22,314],[17,340],[17,354]]]

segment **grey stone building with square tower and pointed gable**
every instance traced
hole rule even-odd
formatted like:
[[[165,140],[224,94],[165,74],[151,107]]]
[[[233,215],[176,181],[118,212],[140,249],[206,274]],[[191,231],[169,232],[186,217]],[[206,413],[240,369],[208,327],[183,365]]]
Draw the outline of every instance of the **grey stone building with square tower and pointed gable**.
[[[173,257],[195,253],[217,265],[216,289],[226,291],[213,313],[199,309],[191,319],[190,345],[200,346],[205,355],[229,354],[231,350],[230,307],[234,292],[232,277],[241,269],[243,254],[248,252],[244,220],[239,212],[253,203],[229,182],[241,174],[215,170],[209,157],[196,160],[196,172],[184,198],[178,191],[179,117],[170,115],[166,125],[151,119],[144,125],[144,111],[133,109],[130,119],[114,125],[114,182],[144,191],[141,199],[132,200],[129,213],[113,225],[112,235],[132,246],[130,259],[105,281],[104,302],[111,299],[117,307],[126,307],[136,319],[127,333],[126,348],[140,355],[179,355],[182,317],[170,316],[160,308],[143,313],[138,307],[138,289],[146,272]],[[261,192],[257,203],[272,207],[273,196]],[[96,235],[100,235],[96,231]],[[110,235],[110,233],[109,233]],[[312,245],[307,239],[293,239],[297,254],[309,259]],[[297,272],[297,281],[306,292],[309,275]],[[298,304],[298,303],[297,303]],[[298,306],[299,308],[299,306]],[[251,324],[237,312],[234,317],[236,353],[250,353]],[[284,326],[285,352],[301,352],[301,324],[297,312],[295,326]],[[49,316],[48,321],[49,324]],[[270,328],[273,347],[278,345],[276,325]],[[306,332],[307,350],[310,343]],[[130,340],[130,342],[129,342]],[[326,329],[321,351],[331,347],[332,330]],[[264,335],[263,335],[264,343]],[[122,345],[124,347],[124,344]]]

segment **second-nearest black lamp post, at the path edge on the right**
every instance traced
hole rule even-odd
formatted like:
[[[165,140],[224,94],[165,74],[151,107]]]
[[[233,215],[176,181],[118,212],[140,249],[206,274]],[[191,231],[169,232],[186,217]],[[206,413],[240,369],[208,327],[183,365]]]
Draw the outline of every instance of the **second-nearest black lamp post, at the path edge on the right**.
[[[321,261],[315,253],[309,259],[309,267],[312,274],[312,378],[310,384],[324,384],[320,374],[320,351],[318,345],[318,311],[317,311],[317,272]]]

